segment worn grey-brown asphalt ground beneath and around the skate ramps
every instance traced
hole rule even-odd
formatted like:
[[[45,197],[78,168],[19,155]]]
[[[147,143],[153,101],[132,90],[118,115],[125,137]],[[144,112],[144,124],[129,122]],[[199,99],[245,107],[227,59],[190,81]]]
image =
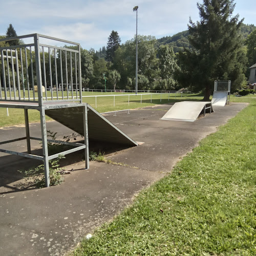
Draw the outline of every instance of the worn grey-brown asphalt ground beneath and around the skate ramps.
[[[74,168],[62,184],[42,189],[14,189],[16,169],[31,164],[30,159],[17,156],[8,158],[1,154],[0,178],[6,176],[0,187],[0,251],[3,255],[61,255],[87,233],[111,220],[143,187],[170,172],[172,166],[219,125],[235,116],[247,103],[232,103],[226,108],[216,108],[195,122],[159,120],[170,108],[169,104],[132,110],[131,114],[108,116],[119,129],[144,144],[111,154],[113,164],[91,162],[67,166]],[[48,123],[52,131],[59,129],[57,122]],[[39,124],[32,125],[35,136]],[[66,127],[58,131],[66,135]],[[0,130],[0,141],[25,133],[24,127]],[[35,136],[36,137],[36,136]],[[23,143],[22,141],[18,143]],[[24,142],[26,143],[26,141]],[[23,145],[23,144],[19,144]],[[16,147],[10,143],[9,148]],[[33,149],[38,148],[34,145]],[[24,147],[26,151],[26,147]],[[8,158],[8,159],[7,159]],[[20,161],[22,159],[22,161]],[[8,160],[11,160],[11,163]],[[13,163],[13,164],[12,164]],[[12,175],[10,174],[12,169]],[[20,176],[15,176],[15,181]],[[2,191],[2,192],[1,192]]]

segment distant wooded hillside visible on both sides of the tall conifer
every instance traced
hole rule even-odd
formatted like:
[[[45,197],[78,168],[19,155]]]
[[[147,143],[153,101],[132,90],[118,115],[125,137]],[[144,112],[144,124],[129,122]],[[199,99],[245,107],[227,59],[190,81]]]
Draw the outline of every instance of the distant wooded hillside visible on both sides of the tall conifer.
[[[247,36],[254,29],[256,29],[256,26],[252,24],[251,25],[242,24],[241,33],[244,39],[247,38]],[[166,45],[166,44],[172,46],[175,53],[179,51],[183,51],[183,47],[190,48],[189,41],[188,41],[188,30],[182,31],[173,36],[164,36],[157,39],[158,47],[160,45]]]

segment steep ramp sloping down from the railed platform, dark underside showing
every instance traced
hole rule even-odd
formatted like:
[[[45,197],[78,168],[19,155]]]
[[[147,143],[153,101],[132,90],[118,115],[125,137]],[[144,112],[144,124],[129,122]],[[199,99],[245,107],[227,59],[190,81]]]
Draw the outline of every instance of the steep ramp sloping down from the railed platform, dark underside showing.
[[[136,141],[124,134],[113,123],[94,110],[89,104],[87,104],[87,107],[89,139],[130,146],[138,145]],[[65,109],[49,109],[46,110],[46,115],[84,136],[83,108],[84,105]]]

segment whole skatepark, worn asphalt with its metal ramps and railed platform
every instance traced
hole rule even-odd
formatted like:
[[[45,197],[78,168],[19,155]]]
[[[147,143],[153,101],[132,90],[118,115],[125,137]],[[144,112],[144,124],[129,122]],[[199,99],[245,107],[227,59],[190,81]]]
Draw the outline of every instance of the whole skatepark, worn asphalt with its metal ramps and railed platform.
[[[49,48],[49,51],[50,48],[60,50],[58,47],[36,43],[39,37],[46,36],[32,36],[38,58],[38,46],[42,47],[43,52],[44,47]],[[26,52],[27,47],[30,47],[31,53],[31,45],[24,47]],[[61,51],[66,54],[69,52],[74,58],[79,55],[79,47],[78,50],[63,48]],[[8,58],[8,49],[6,55],[2,51],[3,57]],[[42,69],[39,67],[40,61],[35,59],[35,62],[40,86],[35,92],[35,84],[30,84],[33,90],[31,98],[26,99],[25,94],[23,97],[22,84],[18,81],[17,94],[14,92],[12,98],[10,90],[8,96],[5,78],[5,91],[1,94],[0,106],[24,109],[26,122],[25,127],[0,130],[1,147],[4,147],[0,150],[0,249],[4,255],[58,255],[67,252],[84,236],[110,221],[129,205],[138,191],[170,173],[177,161],[196,147],[202,138],[216,132],[220,125],[247,105],[232,103],[225,106],[230,92],[230,84],[225,83],[229,84],[229,88],[215,88],[211,102],[178,102],[135,109],[130,114],[102,116],[89,104],[82,102],[79,81],[76,81],[74,94],[72,90],[72,95],[69,95],[67,90],[67,96],[63,96],[62,81],[62,95],[60,93],[56,100],[53,95],[47,99],[47,94],[43,94],[40,73],[45,72],[45,59]],[[57,70],[59,67],[56,62],[55,56],[53,68]],[[79,80],[80,70],[77,67],[75,70]],[[72,72],[71,61],[71,79]],[[66,75],[68,77],[68,71]],[[29,123],[28,111],[31,109],[40,112],[39,123]],[[184,116],[180,118],[181,114]],[[55,121],[46,122],[46,115]],[[49,140],[47,129],[58,131],[59,138]],[[48,142],[62,143],[60,138],[73,131],[82,135],[83,140],[65,142],[63,144],[73,148],[58,154],[48,154]],[[118,145],[112,153],[106,152],[109,164],[96,161],[89,163],[92,141],[99,145]],[[66,169],[73,171],[65,176],[62,184],[48,187],[49,161],[59,154],[67,155],[69,161],[66,162]],[[23,188],[20,186],[22,176],[17,174],[17,169],[38,165],[38,162],[43,162],[45,166],[47,187]]]

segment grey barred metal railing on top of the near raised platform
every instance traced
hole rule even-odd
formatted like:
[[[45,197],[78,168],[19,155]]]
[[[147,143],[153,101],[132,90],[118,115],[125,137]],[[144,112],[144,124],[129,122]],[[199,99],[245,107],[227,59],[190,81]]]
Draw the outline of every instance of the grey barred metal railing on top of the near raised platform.
[[[39,105],[44,105],[46,101],[82,102],[79,44],[40,34],[4,38],[0,41],[17,39],[32,39],[33,42],[0,48],[1,101],[38,102]],[[41,40],[65,46],[42,44]],[[74,84],[72,90],[69,90],[67,83]],[[49,89],[50,97],[47,95]],[[56,97],[53,97],[54,90]]]

